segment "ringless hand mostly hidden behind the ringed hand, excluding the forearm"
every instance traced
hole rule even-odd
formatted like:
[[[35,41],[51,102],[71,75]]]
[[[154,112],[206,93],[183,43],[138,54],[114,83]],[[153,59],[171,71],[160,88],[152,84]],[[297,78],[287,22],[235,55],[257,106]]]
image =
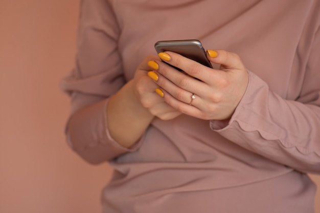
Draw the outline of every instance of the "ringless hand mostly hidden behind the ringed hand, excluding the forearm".
[[[171,120],[181,114],[170,105],[168,105],[163,97],[163,92],[158,89],[157,74],[150,70],[156,70],[157,64],[148,64],[158,59],[157,56],[147,56],[136,69],[133,78],[133,91],[137,99],[140,100],[153,116],[161,120]],[[162,96],[162,97],[161,97]]]

